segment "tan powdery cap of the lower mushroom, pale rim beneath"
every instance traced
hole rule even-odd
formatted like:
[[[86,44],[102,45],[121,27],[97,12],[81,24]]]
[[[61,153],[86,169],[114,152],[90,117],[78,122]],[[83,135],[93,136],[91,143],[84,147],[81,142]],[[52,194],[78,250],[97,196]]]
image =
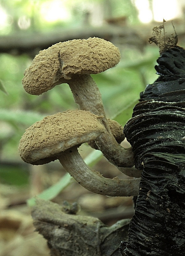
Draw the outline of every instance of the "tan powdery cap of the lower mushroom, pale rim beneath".
[[[105,131],[98,117],[85,110],[67,110],[43,118],[30,126],[19,143],[23,161],[44,164],[57,154],[97,138]]]

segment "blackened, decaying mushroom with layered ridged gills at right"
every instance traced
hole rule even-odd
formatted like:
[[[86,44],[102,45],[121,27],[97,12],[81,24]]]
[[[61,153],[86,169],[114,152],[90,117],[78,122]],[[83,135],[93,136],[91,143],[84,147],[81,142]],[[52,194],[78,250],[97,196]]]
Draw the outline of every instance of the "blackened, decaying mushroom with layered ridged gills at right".
[[[168,40],[171,47],[162,45],[162,28],[155,27],[152,37],[155,43],[160,39],[155,67],[160,76],[141,93],[124,128],[136,168],[143,172],[121,255],[183,256],[185,252],[185,49],[174,45],[176,35]]]

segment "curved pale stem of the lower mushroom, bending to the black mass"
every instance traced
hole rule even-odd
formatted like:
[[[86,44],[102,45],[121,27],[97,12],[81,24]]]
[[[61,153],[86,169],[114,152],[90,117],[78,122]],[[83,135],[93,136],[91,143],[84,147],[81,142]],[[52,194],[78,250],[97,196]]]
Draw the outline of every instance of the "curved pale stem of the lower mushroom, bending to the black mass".
[[[84,188],[106,196],[133,196],[139,191],[140,179],[108,179],[88,167],[78,152],[77,146],[61,152],[57,157],[64,169]]]

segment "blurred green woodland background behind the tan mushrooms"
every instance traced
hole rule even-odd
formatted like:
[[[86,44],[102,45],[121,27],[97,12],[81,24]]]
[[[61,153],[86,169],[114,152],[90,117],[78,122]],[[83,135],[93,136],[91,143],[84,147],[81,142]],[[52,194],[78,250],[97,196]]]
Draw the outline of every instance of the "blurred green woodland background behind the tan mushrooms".
[[[101,91],[107,117],[124,125],[139,93],[157,78],[154,65],[158,48],[148,43],[154,25],[161,24],[158,22],[165,15],[173,19],[181,46],[184,43],[183,4],[170,1],[171,6],[168,1],[161,18],[156,16],[156,2],[0,1],[0,183],[28,182],[29,167],[18,153],[25,129],[46,115],[77,108],[67,84],[40,96],[24,91],[23,73],[34,56],[54,43],[71,39],[97,36],[114,43],[121,52],[120,63],[93,78]],[[175,11],[176,3],[179,13]],[[169,5],[173,10],[171,16],[164,13]],[[171,22],[167,22],[167,33],[173,33]]]

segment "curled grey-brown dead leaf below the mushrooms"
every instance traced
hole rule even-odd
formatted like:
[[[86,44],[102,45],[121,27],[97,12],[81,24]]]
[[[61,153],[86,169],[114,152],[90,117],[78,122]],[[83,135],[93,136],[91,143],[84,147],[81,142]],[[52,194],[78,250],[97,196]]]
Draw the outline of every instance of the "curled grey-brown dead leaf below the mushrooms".
[[[75,214],[74,206],[37,199],[32,211],[34,226],[47,239],[51,256],[118,255],[130,220],[107,227],[98,218]]]

